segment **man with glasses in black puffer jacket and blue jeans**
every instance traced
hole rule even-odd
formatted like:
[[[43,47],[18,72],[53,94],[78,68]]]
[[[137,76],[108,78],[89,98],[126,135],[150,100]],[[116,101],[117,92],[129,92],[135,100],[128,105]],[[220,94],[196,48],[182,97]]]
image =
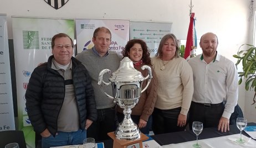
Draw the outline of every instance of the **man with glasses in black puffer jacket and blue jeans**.
[[[72,57],[73,47],[68,35],[54,35],[53,55],[34,69],[25,93],[28,117],[43,148],[82,144],[97,118],[90,76]]]

